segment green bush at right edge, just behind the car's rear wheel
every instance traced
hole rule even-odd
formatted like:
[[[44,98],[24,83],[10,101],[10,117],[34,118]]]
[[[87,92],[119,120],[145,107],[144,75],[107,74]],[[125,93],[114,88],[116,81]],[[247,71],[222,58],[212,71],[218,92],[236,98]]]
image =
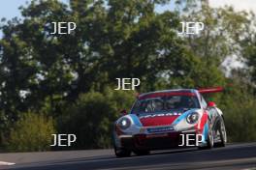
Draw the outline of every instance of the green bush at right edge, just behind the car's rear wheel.
[[[256,140],[256,99],[246,85],[233,81],[219,100],[230,142]]]

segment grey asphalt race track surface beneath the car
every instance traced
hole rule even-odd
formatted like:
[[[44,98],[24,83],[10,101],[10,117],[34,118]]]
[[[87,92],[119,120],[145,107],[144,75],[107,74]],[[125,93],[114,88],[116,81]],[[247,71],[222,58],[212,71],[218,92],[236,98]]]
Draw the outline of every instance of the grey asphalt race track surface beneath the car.
[[[16,170],[256,170],[256,143],[230,144],[225,148],[195,148],[153,152],[148,156],[116,158],[112,150],[0,154],[0,169]]]

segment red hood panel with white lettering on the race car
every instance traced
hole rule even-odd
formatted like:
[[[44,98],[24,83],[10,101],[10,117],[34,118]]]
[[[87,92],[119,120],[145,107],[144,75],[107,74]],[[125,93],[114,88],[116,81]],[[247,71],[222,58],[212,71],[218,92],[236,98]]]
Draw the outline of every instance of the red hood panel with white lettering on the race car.
[[[139,114],[138,117],[143,127],[168,126],[172,125],[176,118],[184,112],[185,110],[176,110],[163,113],[144,113]]]

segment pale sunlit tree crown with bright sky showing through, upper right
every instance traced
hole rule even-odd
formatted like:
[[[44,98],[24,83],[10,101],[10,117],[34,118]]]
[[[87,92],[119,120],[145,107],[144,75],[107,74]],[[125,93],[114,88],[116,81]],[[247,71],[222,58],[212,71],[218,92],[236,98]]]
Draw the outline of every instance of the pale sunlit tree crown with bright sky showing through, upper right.
[[[247,37],[252,15],[243,11],[236,12],[233,7],[228,6],[210,8],[205,3],[198,9],[199,7],[190,8],[181,16],[184,21],[200,21],[205,24],[205,29],[199,36],[184,37],[194,54],[217,67],[231,55],[240,56],[240,42]]]

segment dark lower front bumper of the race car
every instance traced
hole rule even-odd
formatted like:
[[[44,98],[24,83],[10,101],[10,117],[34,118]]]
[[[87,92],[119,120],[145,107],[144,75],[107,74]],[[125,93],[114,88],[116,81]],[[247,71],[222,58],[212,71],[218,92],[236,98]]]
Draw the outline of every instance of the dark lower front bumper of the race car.
[[[183,135],[181,135],[183,134]],[[196,146],[196,131],[174,131],[155,134],[135,134],[119,136],[120,148],[128,150],[160,150],[184,148],[189,134],[189,145]],[[183,146],[179,146],[182,145]]]

